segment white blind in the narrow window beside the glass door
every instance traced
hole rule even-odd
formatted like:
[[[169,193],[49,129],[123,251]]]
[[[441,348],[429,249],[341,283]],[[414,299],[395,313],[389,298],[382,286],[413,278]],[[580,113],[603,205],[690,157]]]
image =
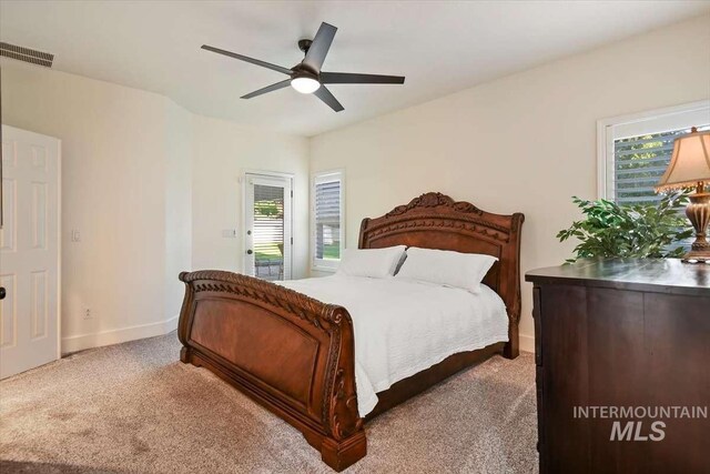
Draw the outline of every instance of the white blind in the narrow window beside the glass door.
[[[314,259],[337,261],[341,259],[341,179],[316,179],[314,188]]]

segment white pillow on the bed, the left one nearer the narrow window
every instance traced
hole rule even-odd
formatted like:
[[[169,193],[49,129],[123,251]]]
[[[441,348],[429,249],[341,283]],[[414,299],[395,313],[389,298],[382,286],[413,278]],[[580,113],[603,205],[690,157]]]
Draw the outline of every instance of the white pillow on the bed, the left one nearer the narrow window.
[[[385,249],[345,249],[337,273],[373,279],[392,276],[405,250],[405,245]]]

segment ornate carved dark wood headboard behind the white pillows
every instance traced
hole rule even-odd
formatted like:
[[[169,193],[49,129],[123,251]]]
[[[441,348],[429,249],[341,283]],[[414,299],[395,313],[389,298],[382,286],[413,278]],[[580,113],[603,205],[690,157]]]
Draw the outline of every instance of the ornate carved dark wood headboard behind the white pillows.
[[[507,350],[517,354],[520,320],[520,228],[525,215],[493,214],[469,202],[428,192],[382,218],[364,219],[361,249],[392,245],[485,253],[498,258],[484,283],[503,299],[510,319]]]

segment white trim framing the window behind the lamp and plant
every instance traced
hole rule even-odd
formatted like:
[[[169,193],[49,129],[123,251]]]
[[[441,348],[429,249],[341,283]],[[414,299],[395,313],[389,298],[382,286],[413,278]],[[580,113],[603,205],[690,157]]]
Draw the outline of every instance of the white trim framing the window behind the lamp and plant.
[[[710,113],[710,100],[666,107],[646,112],[611,117],[597,121],[597,199],[613,200],[613,141],[625,135],[633,137],[642,133],[658,133],[676,127],[672,122],[679,120],[680,114]],[[648,122],[656,122],[659,130],[649,129]],[[641,129],[643,127],[643,129]],[[621,134],[615,131],[621,130]]]

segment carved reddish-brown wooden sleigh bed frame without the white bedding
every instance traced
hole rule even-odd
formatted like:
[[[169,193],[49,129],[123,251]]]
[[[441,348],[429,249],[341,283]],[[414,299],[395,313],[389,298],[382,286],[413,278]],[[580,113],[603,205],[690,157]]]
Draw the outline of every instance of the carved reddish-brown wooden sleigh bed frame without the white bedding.
[[[365,456],[366,421],[493,354],[518,355],[524,219],[426,193],[363,220],[361,249],[404,244],[497,256],[484,283],[500,295],[509,319],[507,343],[454,354],[395,383],[377,393],[378,403],[365,418],[357,410],[347,310],[266,281],[224,271],[181,273],[186,289],[180,360],[209,369],[295,426],[339,472]]]

